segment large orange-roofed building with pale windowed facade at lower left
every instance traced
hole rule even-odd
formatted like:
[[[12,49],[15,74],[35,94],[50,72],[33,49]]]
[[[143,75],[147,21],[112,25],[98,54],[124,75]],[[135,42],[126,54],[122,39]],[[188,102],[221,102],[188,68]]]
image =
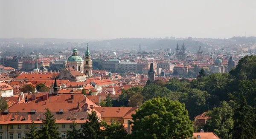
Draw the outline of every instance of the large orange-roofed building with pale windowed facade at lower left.
[[[96,111],[93,107],[98,107],[83,94],[30,94],[21,103],[12,105],[9,109],[0,113],[0,137],[2,139],[22,139],[26,138],[29,132],[29,125],[32,120],[36,128],[43,127],[42,119],[46,108],[56,118],[56,126],[62,138],[66,138],[67,130],[71,130],[73,120],[77,123],[76,129],[80,129],[87,121],[88,113]],[[97,112],[101,119],[101,114]]]

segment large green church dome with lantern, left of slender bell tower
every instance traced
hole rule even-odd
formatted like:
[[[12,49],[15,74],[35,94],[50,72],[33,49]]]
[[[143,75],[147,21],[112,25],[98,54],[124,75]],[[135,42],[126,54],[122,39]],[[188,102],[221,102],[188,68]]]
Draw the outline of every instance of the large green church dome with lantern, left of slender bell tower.
[[[67,59],[67,68],[73,68],[80,73],[84,73],[84,60],[78,55],[76,45],[72,56]]]

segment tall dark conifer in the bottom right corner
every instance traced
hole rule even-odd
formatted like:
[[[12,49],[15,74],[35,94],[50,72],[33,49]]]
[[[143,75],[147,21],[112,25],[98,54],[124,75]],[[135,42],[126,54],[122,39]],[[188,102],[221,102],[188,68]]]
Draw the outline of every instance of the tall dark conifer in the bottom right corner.
[[[247,105],[244,97],[240,106],[235,109],[233,119],[235,120],[233,139],[256,139],[255,111]]]

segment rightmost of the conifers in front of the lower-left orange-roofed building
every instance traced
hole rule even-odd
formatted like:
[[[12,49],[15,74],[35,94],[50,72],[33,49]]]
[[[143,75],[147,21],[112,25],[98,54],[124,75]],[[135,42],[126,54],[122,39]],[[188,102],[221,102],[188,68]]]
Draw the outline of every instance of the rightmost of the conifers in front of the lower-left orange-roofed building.
[[[83,124],[81,129],[84,134],[83,139],[100,139],[101,138],[101,123],[99,122],[99,117],[97,116],[95,111],[88,114],[86,121]]]

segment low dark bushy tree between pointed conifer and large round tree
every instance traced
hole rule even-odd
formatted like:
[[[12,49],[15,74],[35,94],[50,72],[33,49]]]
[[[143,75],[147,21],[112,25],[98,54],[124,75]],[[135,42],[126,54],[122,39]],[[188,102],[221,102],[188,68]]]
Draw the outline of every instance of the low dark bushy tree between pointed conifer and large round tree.
[[[127,131],[122,123],[111,121],[109,125],[107,122],[102,121],[102,126],[105,128],[105,130],[102,130],[103,139],[128,139]]]

